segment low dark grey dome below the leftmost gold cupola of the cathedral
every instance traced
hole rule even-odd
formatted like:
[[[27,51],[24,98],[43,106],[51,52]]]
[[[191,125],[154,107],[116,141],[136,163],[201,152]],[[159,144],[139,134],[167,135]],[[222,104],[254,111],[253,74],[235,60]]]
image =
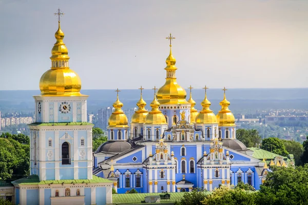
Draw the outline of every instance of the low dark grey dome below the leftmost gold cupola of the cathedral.
[[[96,153],[105,152],[118,154],[130,148],[131,144],[127,141],[106,141],[104,144],[100,145]]]

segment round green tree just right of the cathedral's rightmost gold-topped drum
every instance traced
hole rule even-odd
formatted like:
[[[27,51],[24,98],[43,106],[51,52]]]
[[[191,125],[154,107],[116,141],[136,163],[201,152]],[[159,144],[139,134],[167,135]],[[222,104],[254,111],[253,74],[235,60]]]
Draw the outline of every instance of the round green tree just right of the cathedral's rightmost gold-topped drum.
[[[237,129],[236,138],[243,142],[246,147],[255,147],[260,144],[261,137],[256,129]]]

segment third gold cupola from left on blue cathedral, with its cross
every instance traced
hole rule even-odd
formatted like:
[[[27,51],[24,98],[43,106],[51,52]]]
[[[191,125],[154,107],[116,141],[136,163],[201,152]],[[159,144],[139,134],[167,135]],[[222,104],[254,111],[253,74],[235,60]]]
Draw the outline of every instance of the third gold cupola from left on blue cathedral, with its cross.
[[[160,103],[156,98],[157,88],[154,87],[153,90],[154,90],[154,99],[152,103],[150,104],[152,109],[145,117],[145,124],[146,125],[167,125],[166,117],[158,109],[158,107],[160,106]]]

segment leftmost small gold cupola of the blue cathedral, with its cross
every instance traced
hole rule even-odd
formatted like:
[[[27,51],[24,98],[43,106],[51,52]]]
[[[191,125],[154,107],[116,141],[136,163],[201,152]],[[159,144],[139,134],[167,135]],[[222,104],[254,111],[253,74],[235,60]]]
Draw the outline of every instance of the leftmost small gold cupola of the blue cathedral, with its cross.
[[[114,112],[109,117],[108,120],[108,128],[128,128],[128,120],[125,113],[122,110],[123,103],[119,100],[119,92],[120,90],[117,89],[117,100],[112,104],[114,108]]]

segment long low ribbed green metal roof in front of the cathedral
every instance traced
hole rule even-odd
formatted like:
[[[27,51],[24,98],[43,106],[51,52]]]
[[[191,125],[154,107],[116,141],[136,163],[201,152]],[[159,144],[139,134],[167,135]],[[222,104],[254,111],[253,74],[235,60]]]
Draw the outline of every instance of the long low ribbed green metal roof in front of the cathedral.
[[[164,195],[165,193],[140,193],[140,194],[112,194],[112,203],[141,203],[145,196]],[[162,202],[180,201],[185,192],[170,192],[170,199],[161,199]],[[206,191],[204,194],[210,194]]]

